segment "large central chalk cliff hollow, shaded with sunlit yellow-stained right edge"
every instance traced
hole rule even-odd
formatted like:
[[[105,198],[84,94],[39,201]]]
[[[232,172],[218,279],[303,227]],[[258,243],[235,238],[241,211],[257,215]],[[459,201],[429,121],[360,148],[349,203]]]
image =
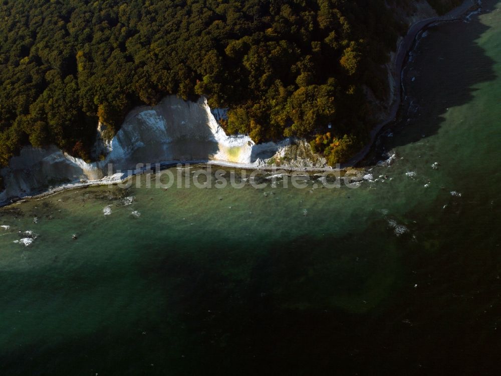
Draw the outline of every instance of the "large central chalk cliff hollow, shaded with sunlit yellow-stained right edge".
[[[129,113],[108,144],[106,163],[127,168],[168,160],[252,163],[254,146],[248,136],[226,136],[205,98],[194,103],[168,96]]]

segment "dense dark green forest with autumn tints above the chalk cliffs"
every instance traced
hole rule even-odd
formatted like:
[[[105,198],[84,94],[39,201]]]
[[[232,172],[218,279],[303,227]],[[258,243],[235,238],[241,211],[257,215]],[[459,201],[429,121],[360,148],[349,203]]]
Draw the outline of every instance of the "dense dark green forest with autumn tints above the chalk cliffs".
[[[385,95],[381,65],[405,31],[387,4],[3,0],[0,165],[26,144],[88,160],[98,119],[112,136],[166,94],[206,95],[230,108],[227,132],[310,136],[339,161],[370,126],[363,85]]]

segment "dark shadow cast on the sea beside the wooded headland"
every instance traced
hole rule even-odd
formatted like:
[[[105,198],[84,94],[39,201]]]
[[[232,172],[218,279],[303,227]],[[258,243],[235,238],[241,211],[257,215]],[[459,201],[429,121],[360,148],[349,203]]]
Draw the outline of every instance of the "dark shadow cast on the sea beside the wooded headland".
[[[386,150],[437,134],[449,108],[469,103],[477,84],[496,79],[494,60],[476,42],[488,29],[478,16],[428,29],[404,70],[401,120],[390,125],[394,137],[380,137],[361,166],[372,165]]]

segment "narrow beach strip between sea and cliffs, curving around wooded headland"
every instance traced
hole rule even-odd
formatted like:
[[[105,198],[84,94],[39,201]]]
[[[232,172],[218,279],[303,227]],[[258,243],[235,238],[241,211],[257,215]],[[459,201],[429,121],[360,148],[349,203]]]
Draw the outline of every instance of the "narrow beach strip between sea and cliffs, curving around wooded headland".
[[[471,14],[472,12],[478,11],[478,9],[481,8],[480,6],[481,2],[479,0],[465,0],[463,4],[460,6],[454,8],[450,12],[448,12],[444,16],[437,16],[437,17],[432,17],[426,20],[421,20],[413,25],[411,25],[407,31],[407,34],[403,37],[402,41],[400,42],[398,49],[397,49],[397,55],[395,59],[395,72],[398,72],[399,74],[397,75],[397,82],[395,84],[396,87],[396,96],[395,99],[390,107],[390,114],[387,119],[384,121],[380,122],[377,124],[370,132],[370,141],[363,147],[361,151],[359,151],[355,156],[353,156],[348,162],[342,163],[340,165],[341,170],[347,170],[349,168],[357,168],[356,164],[362,161],[371,148],[373,147],[375,141],[378,139],[381,131],[383,128],[385,128],[387,125],[397,121],[397,115],[399,112],[399,109],[402,104],[402,93],[404,92],[403,88],[403,80],[402,80],[402,75],[406,66],[406,63],[408,61],[408,56],[409,53],[415,48],[416,46],[416,41],[419,35],[425,31],[428,27],[438,25],[441,23],[446,23],[446,22],[455,22],[462,20],[465,16],[467,17],[468,14]],[[276,170],[284,170],[284,171],[303,171],[303,172],[326,172],[326,171],[333,171],[334,168],[332,167],[288,167],[288,166],[275,166],[275,165],[254,165],[252,163],[236,163],[236,162],[226,162],[226,161],[220,161],[220,160],[173,160],[173,161],[165,161],[165,162],[159,162],[158,163],[160,166],[160,169],[167,169],[167,168],[172,168],[177,166],[178,164],[182,165],[209,165],[209,166],[220,166],[220,167],[228,167],[228,168],[240,168],[244,170],[248,169],[255,169],[255,170],[263,170],[263,171],[276,171]],[[129,172],[131,170],[128,170]],[[0,202],[0,208],[13,205],[16,203],[21,203],[27,200],[39,200],[63,191],[69,191],[69,190],[74,190],[74,189],[79,189],[79,188],[85,188],[89,186],[102,186],[102,185],[114,185],[114,184],[119,184],[130,177],[140,175],[145,171],[145,169],[142,170],[135,170],[130,174],[126,173],[115,173],[114,175],[108,175],[105,176],[102,179],[99,180],[88,180],[85,182],[73,182],[73,183],[67,183],[67,184],[62,184],[57,187],[54,187],[53,189],[40,192],[38,194],[33,194],[33,195],[27,195],[23,197],[18,197],[18,198],[11,198],[9,201],[5,202]],[[126,175],[126,176],[124,176]]]

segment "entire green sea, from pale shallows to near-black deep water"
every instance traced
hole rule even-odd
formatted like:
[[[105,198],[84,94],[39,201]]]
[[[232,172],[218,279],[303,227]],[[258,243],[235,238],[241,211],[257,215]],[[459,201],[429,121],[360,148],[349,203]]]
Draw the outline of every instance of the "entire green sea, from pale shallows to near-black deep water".
[[[410,110],[374,153],[393,162],[365,166],[388,179],[143,176],[1,209],[0,374],[499,374],[501,4],[485,7],[421,40]]]

